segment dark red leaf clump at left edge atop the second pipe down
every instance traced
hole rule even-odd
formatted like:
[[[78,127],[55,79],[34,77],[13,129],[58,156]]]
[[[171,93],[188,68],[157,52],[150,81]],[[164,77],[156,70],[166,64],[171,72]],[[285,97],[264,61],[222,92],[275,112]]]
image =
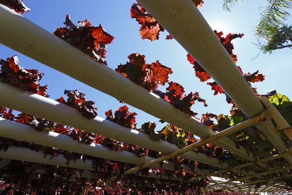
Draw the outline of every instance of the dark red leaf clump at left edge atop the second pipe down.
[[[1,72],[0,81],[16,86],[24,91],[30,91],[46,98],[47,85],[40,86],[39,81],[43,77],[43,73],[38,73],[38,70],[24,69],[19,65],[18,57],[15,55],[6,60],[0,60]]]

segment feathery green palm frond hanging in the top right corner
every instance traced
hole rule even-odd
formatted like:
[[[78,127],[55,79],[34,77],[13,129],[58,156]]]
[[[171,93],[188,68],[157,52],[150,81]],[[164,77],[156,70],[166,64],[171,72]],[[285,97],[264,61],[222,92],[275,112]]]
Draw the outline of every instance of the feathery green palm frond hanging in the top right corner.
[[[278,26],[290,17],[288,10],[292,9],[292,0],[268,0],[269,5],[261,13],[255,35],[258,39],[271,39]]]

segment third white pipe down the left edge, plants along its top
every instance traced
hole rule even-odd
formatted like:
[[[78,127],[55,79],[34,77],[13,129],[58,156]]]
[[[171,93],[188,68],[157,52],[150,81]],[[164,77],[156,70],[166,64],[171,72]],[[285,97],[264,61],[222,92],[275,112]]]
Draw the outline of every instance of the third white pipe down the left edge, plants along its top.
[[[22,141],[31,142],[48,147],[58,148],[66,151],[71,151],[79,154],[95,156],[120,162],[126,162],[135,165],[141,165],[146,162],[155,160],[153,157],[142,156],[139,158],[133,153],[127,151],[111,151],[108,147],[99,144],[91,143],[89,145],[73,140],[73,137],[61,135],[51,131],[38,132],[29,125],[24,125],[11,120],[0,118],[0,136],[11,139],[20,139]],[[160,168],[160,165],[153,166]],[[166,170],[174,170],[174,163],[165,161],[163,168]],[[183,165],[183,169],[187,173],[193,171],[187,166]],[[196,170],[197,174],[209,173],[209,170]]]

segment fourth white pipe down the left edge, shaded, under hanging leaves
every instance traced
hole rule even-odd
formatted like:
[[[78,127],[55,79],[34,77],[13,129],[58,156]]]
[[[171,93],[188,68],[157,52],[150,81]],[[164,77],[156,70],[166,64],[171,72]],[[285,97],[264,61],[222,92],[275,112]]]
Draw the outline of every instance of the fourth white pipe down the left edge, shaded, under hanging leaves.
[[[18,146],[9,146],[6,152],[1,150],[0,157],[12,160],[49,164],[54,166],[71,167],[75,169],[93,170],[93,161],[89,159],[86,159],[85,162],[82,159],[77,159],[76,161],[70,160],[70,164],[68,166],[66,165],[68,160],[63,155],[54,156],[53,158],[50,155],[44,157],[42,152],[35,152],[31,149]]]

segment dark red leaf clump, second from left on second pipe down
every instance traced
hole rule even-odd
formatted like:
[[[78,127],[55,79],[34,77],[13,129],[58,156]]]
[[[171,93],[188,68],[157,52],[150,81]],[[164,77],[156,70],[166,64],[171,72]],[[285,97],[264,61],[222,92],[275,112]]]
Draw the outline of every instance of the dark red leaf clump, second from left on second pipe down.
[[[94,101],[88,101],[84,93],[77,90],[65,90],[64,94],[67,95],[67,101],[63,97],[58,98],[56,101],[76,108],[79,112],[82,112],[82,116],[88,119],[93,119],[97,116],[97,108],[93,106]]]

